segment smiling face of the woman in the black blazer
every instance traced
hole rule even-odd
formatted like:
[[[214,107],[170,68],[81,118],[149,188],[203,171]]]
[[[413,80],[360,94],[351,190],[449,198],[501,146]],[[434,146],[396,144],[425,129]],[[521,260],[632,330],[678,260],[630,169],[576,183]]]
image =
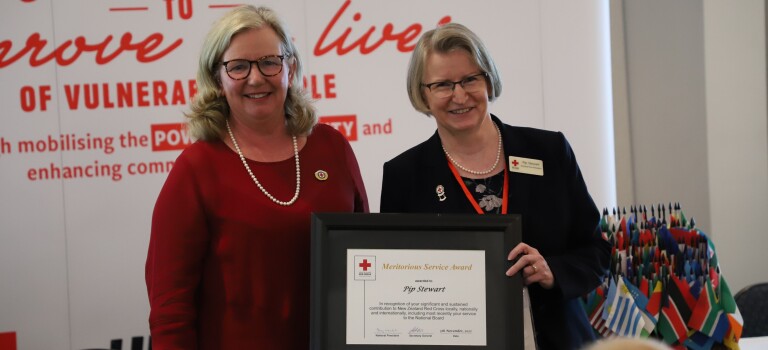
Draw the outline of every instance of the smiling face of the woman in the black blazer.
[[[422,82],[460,81],[481,72],[480,67],[464,50],[434,52],[427,57]],[[444,98],[436,97],[429,89],[423,88],[429,112],[435,117],[438,129],[454,135],[471,133],[479,130],[485,118],[490,118],[487,80],[483,77],[481,79],[486,88],[467,93],[460,84],[456,84],[453,95]]]

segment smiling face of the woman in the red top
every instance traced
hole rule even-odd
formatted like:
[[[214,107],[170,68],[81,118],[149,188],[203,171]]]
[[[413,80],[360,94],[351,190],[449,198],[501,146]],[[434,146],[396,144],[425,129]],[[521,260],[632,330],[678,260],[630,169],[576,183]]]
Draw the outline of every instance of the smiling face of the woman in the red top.
[[[269,26],[246,30],[232,37],[221,61],[234,59],[255,61],[264,56],[282,55],[283,50],[275,31]],[[293,67],[289,57],[283,60],[283,70],[275,76],[265,77],[256,64],[242,80],[227,75],[224,66],[219,69],[221,90],[227,98],[231,117],[241,123],[267,120],[285,120],[284,104],[290,86]]]

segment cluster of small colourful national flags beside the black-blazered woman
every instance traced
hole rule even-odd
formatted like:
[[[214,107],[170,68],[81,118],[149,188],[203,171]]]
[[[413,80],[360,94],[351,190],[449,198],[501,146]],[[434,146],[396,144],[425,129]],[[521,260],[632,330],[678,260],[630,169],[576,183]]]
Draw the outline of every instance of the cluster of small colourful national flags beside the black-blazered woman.
[[[715,245],[679,204],[603,209],[610,274],[584,296],[598,336],[655,337],[673,348],[738,349],[743,319]]]

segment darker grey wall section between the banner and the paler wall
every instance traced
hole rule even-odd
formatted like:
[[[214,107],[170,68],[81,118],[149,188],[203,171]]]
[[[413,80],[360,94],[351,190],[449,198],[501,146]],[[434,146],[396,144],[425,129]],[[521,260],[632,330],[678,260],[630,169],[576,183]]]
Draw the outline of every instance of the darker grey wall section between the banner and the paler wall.
[[[702,5],[630,0],[624,13],[634,203],[680,202],[709,232]]]

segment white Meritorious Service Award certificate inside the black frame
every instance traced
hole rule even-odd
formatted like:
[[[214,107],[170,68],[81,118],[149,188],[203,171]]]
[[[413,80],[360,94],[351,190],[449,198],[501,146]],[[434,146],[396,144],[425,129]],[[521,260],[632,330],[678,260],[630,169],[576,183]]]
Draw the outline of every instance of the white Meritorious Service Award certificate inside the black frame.
[[[484,250],[347,249],[347,344],[487,345]]]

